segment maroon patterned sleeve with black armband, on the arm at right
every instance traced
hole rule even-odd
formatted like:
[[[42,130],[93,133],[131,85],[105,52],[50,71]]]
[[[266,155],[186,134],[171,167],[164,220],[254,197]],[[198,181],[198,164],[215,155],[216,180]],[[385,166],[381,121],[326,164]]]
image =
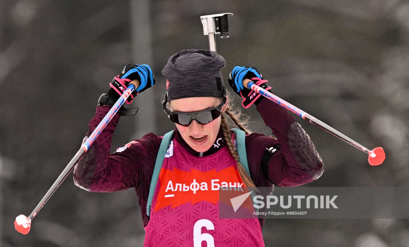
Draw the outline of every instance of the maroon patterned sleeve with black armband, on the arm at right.
[[[268,99],[261,100],[257,110],[277,139],[260,133],[246,137],[250,172],[256,185],[293,187],[319,178],[324,172],[322,159],[294,117]],[[267,167],[263,167],[261,159],[267,149],[274,153]]]

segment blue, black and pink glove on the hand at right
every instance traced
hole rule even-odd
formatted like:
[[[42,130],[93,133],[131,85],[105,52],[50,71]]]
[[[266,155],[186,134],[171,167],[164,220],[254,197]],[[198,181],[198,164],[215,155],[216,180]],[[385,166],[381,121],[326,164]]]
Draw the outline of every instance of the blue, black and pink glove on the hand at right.
[[[263,80],[260,71],[256,67],[234,67],[229,75],[229,85],[243,98],[242,105],[244,108],[249,108],[253,104],[257,105],[263,99],[261,94],[243,86],[244,79],[252,80],[257,86],[271,92],[271,87],[267,85],[268,81]]]

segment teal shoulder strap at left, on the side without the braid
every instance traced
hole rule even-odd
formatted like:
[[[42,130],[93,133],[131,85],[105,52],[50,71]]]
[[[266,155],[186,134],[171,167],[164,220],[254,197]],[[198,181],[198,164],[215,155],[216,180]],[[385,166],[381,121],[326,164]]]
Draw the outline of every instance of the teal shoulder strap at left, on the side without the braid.
[[[155,194],[155,188],[157,184],[157,179],[159,178],[160,169],[162,168],[163,160],[168,151],[169,144],[173,138],[173,130],[166,133],[163,136],[162,142],[160,142],[159,151],[157,152],[155,167],[153,167],[153,174],[151,179],[151,186],[149,187],[148,202],[146,202],[146,214],[149,216],[151,214],[151,205],[153,200],[153,194]]]

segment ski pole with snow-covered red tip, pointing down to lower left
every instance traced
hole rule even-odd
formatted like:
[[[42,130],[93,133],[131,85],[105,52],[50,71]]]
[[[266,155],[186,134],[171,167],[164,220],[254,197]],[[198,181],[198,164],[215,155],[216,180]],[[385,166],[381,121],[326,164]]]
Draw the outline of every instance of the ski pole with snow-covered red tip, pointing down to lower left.
[[[83,145],[81,145],[81,148],[76,152],[74,157],[71,159],[71,161],[68,163],[68,165],[65,167],[63,172],[58,176],[57,180],[55,180],[54,184],[49,188],[43,199],[40,200],[38,205],[34,208],[34,210],[31,212],[31,214],[27,217],[23,214],[20,214],[19,216],[16,217],[16,220],[14,221],[14,227],[16,230],[22,234],[28,234],[30,231],[31,227],[31,220],[38,214],[38,211],[40,211],[41,208],[44,207],[45,203],[48,201],[48,199],[54,194],[54,192],[58,189],[58,187],[61,185],[61,183],[64,181],[65,178],[67,178],[68,174],[74,169],[74,166],[76,163],[82,158],[82,156],[88,151],[88,149],[91,147],[92,143],[97,139],[99,134],[105,129],[105,127],[108,125],[108,123],[112,120],[112,118],[115,116],[115,114],[118,112],[119,108],[124,105],[125,100],[130,96],[130,94],[135,91],[135,89],[140,85],[140,82],[138,80],[133,80],[132,82],[129,83],[128,87],[124,91],[124,93],[121,95],[121,97],[117,100],[115,105],[112,106],[110,111],[106,114],[106,116],[102,119],[102,121],[99,123],[97,128],[92,132],[90,137],[84,142]]]

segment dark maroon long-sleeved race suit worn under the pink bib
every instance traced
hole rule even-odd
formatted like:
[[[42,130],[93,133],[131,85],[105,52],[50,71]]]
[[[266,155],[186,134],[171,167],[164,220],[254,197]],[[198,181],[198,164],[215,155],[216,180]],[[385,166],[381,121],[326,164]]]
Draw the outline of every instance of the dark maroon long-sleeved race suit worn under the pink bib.
[[[87,136],[94,131],[110,108],[111,106],[97,107],[95,116],[89,122]],[[245,138],[249,170],[256,187],[294,187],[319,178],[324,171],[321,157],[294,117],[268,99],[261,100],[256,108],[276,136],[272,138],[252,133]],[[135,187],[143,225],[147,227],[150,217],[146,215],[146,203],[162,137],[148,133],[110,154],[112,135],[119,117],[115,115],[112,118],[75,166],[74,183],[92,192],[122,191]],[[225,147],[221,129],[213,146],[201,153],[187,145],[177,129],[174,131],[174,139],[187,153],[196,157],[212,156]],[[268,158],[267,161],[265,157]],[[260,227],[263,227],[264,219],[259,222]]]

